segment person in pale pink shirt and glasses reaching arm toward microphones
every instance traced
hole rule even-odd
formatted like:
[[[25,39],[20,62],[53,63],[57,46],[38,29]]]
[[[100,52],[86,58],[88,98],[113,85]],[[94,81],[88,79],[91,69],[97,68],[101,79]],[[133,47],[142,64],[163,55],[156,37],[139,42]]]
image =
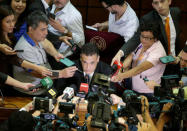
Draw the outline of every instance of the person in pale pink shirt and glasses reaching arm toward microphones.
[[[118,82],[132,77],[132,89],[136,93],[148,97],[153,95],[154,90],[144,83],[144,78],[157,83],[161,82],[165,65],[160,62],[159,58],[165,56],[166,53],[158,40],[159,32],[156,25],[153,23],[142,24],[140,31],[140,45],[124,61],[125,69],[130,67],[131,62],[132,68],[124,73],[119,73],[111,80]]]

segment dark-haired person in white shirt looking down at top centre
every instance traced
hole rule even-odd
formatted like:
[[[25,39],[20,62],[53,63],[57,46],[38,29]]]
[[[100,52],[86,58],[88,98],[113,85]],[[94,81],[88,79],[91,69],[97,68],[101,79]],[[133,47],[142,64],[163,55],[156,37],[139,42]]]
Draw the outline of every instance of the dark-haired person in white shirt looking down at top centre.
[[[136,32],[139,21],[138,17],[126,0],[99,0],[110,14],[108,21],[96,23],[93,27],[100,31],[107,29],[124,37],[127,42]]]

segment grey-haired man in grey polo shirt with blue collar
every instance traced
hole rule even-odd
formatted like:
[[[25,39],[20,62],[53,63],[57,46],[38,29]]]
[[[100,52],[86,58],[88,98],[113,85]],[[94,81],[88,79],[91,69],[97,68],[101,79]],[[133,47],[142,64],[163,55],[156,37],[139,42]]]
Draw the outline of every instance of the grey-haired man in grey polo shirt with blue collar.
[[[46,68],[51,69],[46,53],[53,56],[56,61],[63,58],[60,53],[56,51],[54,46],[46,39],[48,18],[40,11],[32,12],[27,19],[28,32],[25,33],[17,42],[15,49],[24,50],[19,52],[18,57],[28,60],[37,65],[43,65]],[[77,70],[76,67],[69,67],[61,71],[62,77],[71,77]],[[67,73],[71,72],[71,73]],[[63,74],[64,73],[64,74]],[[20,81],[31,82],[33,84],[39,84],[40,78],[32,76],[28,71],[20,67],[14,67],[14,77]],[[61,76],[60,76],[61,77]],[[25,92],[20,89],[16,90],[30,94],[30,95],[41,95],[45,91],[44,89],[38,90],[37,92]]]

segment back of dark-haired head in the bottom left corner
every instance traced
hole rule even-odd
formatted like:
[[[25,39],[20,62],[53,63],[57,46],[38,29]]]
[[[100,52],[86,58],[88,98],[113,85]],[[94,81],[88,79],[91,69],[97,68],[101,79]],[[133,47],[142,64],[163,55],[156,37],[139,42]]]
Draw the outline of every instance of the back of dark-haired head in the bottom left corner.
[[[29,112],[16,111],[8,118],[9,131],[32,131],[35,121]]]

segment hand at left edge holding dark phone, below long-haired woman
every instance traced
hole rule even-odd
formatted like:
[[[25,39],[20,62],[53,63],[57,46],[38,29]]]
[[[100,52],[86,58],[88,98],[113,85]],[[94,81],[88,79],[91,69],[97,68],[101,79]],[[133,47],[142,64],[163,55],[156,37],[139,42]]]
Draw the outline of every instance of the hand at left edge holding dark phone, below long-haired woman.
[[[15,55],[16,52],[6,44],[0,44],[0,51],[5,55]]]

